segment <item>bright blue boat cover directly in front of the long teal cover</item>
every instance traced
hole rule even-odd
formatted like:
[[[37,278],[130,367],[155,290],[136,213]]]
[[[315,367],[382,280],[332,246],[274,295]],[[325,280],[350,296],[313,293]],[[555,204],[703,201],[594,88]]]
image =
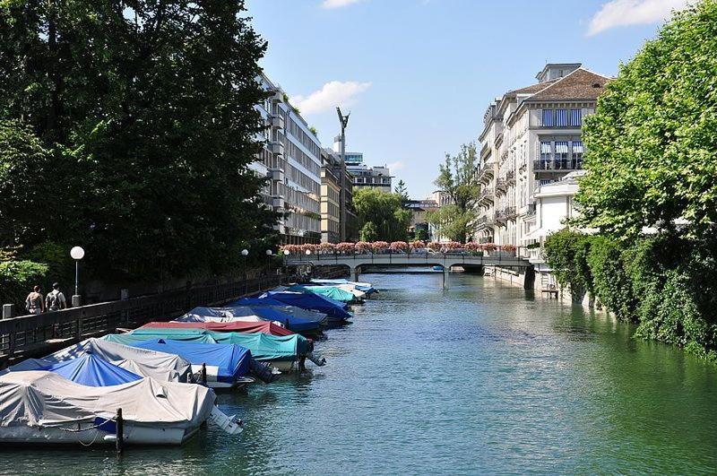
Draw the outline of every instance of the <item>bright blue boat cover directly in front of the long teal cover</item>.
[[[217,381],[232,384],[249,372],[252,353],[235,344],[183,342],[171,339],[151,339],[134,342],[133,347],[175,354],[188,360],[194,370],[206,364],[217,368]]]

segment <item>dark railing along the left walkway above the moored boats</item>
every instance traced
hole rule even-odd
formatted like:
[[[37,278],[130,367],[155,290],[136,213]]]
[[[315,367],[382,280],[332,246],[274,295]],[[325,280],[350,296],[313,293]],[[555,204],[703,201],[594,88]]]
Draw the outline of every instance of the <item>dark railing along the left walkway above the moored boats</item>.
[[[58,346],[65,347],[91,336],[112,333],[117,327],[168,320],[193,307],[222,303],[271,289],[288,279],[287,274],[275,274],[3,319],[0,320],[0,367],[30,355],[45,355]]]

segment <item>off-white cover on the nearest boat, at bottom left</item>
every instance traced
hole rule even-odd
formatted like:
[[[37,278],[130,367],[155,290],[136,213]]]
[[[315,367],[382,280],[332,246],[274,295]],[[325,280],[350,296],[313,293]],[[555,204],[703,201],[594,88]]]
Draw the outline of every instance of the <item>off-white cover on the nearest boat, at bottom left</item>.
[[[212,389],[145,377],[128,384],[85,386],[52,372],[0,376],[0,427],[65,427],[114,419],[152,428],[195,428],[212,412]]]

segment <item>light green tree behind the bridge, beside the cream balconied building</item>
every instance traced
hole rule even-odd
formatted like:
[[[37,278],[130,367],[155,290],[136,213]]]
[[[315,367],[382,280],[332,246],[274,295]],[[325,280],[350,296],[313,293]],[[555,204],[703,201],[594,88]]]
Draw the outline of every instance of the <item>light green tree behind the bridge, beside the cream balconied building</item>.
[[[461,151],[454,157],[446,154],[445,164],[439,167],[434,184],[448,195],[449,204],[436,212],[429,212],[428,221],[436,225],[442,235],[465,243],[478,225],[476,202],[480,187],[475,144],[463,144]]]

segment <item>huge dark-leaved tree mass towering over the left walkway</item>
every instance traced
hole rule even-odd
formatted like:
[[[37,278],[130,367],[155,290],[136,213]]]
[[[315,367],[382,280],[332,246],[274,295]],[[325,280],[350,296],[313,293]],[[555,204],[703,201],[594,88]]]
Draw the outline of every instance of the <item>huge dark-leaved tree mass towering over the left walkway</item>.
[[[51,162],[22,245],[79,243],[95,273],[154,277],[220,272],[272,234],[248,169],[266,44],[244,13],[242,0],[3,2],[0,119]]]

